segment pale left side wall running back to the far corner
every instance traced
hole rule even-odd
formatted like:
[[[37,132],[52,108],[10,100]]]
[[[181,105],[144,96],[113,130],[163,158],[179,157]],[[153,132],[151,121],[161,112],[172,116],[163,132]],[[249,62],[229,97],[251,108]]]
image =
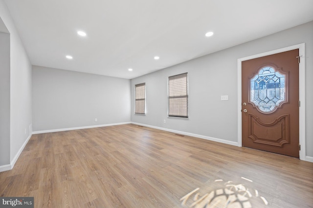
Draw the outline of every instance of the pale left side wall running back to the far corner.
[[[13,162],[14,165],[30,135],[31,64],[3,0],[0,0],[0,18],[10,34],[10,153],[6,153],[3,161],[9,158],[10,163]],[[2,109],[2,106],[0,108]],[[2,148],[4,147],[0,149]]]

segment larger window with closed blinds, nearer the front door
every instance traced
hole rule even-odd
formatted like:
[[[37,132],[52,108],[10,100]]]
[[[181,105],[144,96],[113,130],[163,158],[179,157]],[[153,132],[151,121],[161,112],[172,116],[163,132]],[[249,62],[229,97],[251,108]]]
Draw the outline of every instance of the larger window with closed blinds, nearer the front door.
[[[168,116],[188,118],[188,73],[168,77]]]

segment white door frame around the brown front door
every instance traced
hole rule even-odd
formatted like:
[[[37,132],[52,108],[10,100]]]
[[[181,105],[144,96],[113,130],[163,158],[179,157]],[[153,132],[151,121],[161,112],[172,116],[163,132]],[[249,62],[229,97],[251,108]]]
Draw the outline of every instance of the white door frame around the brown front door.
[[[265,57],[268,55],[278,54],[285,51],[291,51],[294,49],[299,49],[299,56],[300,56],[300,63],[299,63],[299,100],[300,100],[300,107],[299,107],[299,144],[301,146],[301,150],[299,151],[299,159],[300,160],[306,160],[306,145],[305,145],[305,43],[300,43],[297,45],[292,45],[285,48],[280,48],[273,51],[268,51],[261,54],[256,54],[248,57],[239,58],[237,63],[237,89],[238,89],[238,146],[242,147],[242,94],[241,94],[241,62],[250,60],[253,58],[258,57]]]

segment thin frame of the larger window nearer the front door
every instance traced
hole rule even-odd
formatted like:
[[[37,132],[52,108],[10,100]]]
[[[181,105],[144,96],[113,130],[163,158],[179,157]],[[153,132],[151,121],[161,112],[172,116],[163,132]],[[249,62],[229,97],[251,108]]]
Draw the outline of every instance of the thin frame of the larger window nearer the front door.
[[[183,76],[186,75],[186,95],[185,96],[173,96],[170,97],[170,80],[171,78],[177,76],[179,78],[179,76]],[[186,97],[186,102],[187,102],[187,109],[186,109],[186,115],[175,115],[175,114],[170,114],[170,99],[171,98],[178,98],[178,97]],[[169,118],[183,118],[183,119],[188,119],[189,118],[189,78],[188,78],[188,73],[182,73],[182,74],[178,74],[178,75],[174,75],[174,76],[168,76],[167,78],[167,116]]]

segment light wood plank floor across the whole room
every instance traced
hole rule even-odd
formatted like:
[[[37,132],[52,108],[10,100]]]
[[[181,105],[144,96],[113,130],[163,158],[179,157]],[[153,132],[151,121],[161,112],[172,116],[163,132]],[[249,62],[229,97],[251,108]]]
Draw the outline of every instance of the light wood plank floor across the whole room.
[[[313,163],[132,124],[43,133],[0,172],[0,196],[33,196],[35,208],[312,208]]]

